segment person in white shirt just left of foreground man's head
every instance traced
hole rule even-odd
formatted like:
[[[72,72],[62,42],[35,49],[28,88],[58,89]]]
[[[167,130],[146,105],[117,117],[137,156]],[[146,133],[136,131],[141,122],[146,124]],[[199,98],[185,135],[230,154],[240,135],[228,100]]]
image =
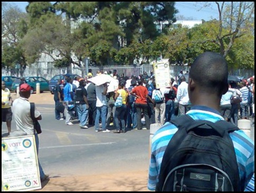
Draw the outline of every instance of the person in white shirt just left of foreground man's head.
[[[178,86],[177,99],[179,102],[179,115],[185,115],[189,110],[188,83],[184,76],[180,77],[181,84]]]

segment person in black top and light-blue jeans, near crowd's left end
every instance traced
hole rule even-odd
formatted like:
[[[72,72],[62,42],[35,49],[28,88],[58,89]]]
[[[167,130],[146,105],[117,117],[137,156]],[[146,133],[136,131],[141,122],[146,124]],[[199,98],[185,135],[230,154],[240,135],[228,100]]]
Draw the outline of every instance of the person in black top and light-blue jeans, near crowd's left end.
[[[87,129],[88,127],[86,126],[86,120],[87,120],[87,115],[88,115],[88,101],[87,101],[87,92],[86,89],[84,88],[86,85],[86,82],[84,79],[80,79],[80,86],[76,88],[76,101],[75,105],[77,108],[77,114],[80,120],[80,127]]]

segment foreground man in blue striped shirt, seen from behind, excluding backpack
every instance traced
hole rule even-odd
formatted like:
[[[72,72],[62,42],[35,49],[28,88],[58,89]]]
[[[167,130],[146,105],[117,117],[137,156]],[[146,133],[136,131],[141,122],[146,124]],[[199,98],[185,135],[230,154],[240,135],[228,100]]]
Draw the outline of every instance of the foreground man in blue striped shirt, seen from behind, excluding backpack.
[[[221,96],[228,91],[228,66],[220,54],[205,52],[195,59],[190,70],[188,91],[193,107],[187,115],[194,120],[213,123],[224,120],[218,110]],[[149,190],[155,190],[164,151],[176,131],[178,128],[169,123],[153,136],[147,184]],[[237,157],[235,161],[238,162],[241,189],[244,190],[254,172],[254,143],[242,130],[230,133],[230,137]]]

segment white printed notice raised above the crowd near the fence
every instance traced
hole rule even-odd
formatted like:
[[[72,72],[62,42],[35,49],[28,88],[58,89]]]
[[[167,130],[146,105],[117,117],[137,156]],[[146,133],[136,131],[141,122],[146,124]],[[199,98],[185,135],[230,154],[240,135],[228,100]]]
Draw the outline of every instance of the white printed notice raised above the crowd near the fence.
[[[170,67],[168,62],[157,62],[154,64],[154,75],[156,88],[170,86]]]

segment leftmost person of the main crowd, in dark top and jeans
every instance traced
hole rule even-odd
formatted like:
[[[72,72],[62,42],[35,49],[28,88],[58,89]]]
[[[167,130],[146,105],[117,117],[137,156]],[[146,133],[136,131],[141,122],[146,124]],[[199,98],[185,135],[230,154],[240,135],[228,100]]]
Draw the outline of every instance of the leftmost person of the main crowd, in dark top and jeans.
[[[63,103],[63,100],[64,100],[63,90],[61,89],[61,84],[63,84],[63,80],[58,79],[58,82],[57,82],[56,86],[53,89],[54,101],[55,101],[55,119],[57,119],[57,120],[64,120],[65,119],[64,112],[63,112],[63,117],[61,117],[61,112],[56,110],[58,105],[60,105],[60,103]]]

